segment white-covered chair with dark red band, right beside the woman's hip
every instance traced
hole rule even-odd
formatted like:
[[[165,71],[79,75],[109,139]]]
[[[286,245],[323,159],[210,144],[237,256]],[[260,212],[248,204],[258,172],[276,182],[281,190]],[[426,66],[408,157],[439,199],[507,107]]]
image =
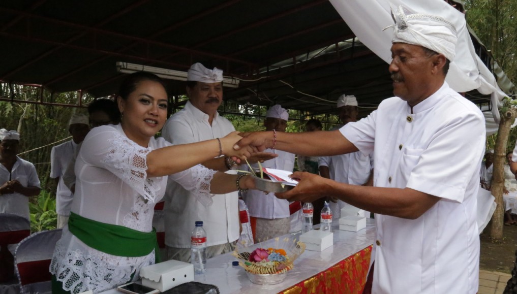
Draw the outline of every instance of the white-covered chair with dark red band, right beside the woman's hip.
[[[21,293],[51,293],[50,262],[61,229],[41,231],[23,239],[16,249],[14,265]]]

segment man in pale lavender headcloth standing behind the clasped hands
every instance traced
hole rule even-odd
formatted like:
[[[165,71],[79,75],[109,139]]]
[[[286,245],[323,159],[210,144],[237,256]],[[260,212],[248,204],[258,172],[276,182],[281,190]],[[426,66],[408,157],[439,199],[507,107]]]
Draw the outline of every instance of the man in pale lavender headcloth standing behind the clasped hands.
[[[288,119],[289,114],[282,106],[278,104],[271,106],[264,119],[266,131],[285,132]],[[293,171],[295,154],[274,148],[265,151],[276,153],[278,157],[265,161],[262,163],[263,167]],[[258,165],[253,164],[252,167],[258,168]],[[291,223],[287,200],[278,199],[273,193],[259,190],[248,190],[242,197],[250,211],[251,230],[255,243],[289,233]]]

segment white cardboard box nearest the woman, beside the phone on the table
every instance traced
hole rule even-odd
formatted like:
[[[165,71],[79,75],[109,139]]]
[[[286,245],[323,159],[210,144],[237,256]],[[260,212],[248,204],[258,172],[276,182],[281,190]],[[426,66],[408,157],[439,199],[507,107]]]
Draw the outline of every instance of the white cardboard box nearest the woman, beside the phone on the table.
[[[168,260],[140,270],[142,285],[160,292],[179,284],[194,281],[194,265],[178,260]]]

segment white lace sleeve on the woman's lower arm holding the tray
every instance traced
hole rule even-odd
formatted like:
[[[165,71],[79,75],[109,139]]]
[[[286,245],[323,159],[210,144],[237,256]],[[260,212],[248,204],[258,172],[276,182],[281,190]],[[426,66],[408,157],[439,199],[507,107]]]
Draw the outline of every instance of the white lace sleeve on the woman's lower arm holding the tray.
[[[210,193],[210,182],[216,173],[216,171],[198,164],[186,171],[170,175],[169,180],[178,182],[183,188],[190,191],[203,206],[210,206],[214,196]]]

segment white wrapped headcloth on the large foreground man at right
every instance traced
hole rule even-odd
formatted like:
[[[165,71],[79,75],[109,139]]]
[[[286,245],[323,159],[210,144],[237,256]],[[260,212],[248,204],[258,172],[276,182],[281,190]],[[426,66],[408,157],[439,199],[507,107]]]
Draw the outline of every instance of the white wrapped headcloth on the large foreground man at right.
[[[392,43],[420,45],[445,55],[449,61],[454,60],[458,35],[451,22],[429,14],[406,15],[402,6],[397,11],[391,7],[391,16],[395,21],[388,26],[394,27]]]

